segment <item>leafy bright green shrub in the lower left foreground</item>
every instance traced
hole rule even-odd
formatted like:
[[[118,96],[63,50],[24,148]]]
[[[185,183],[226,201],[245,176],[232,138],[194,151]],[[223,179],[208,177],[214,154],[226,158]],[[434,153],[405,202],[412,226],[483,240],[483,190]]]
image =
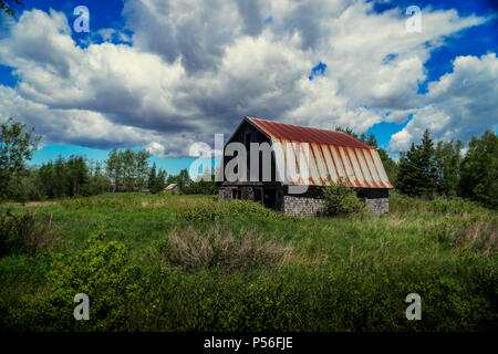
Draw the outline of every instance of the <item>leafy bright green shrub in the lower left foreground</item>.
[[[104,237],[98,231],[76,254],[54,257],[48,273],[51,292],[39,309],[51,330],[116,331],[131,325],[129,314],[147,290],[147,280],[138,267],[129,266],[126,247],[105,242]],[[73,317],[77,293],[90,298],[90,321]]]

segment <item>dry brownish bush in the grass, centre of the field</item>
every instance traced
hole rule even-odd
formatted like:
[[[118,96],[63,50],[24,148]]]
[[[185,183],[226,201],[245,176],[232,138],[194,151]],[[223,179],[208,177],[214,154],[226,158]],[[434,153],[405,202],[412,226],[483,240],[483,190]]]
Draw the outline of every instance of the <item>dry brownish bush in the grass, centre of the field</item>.
[[[236,239],[231,232],[219,228],[205,235],[190,228],[170,232],[159,247],[159,253],[168,266],[229,271],[245,267],[276,267],[290,253],[290,248],[249,233]]]

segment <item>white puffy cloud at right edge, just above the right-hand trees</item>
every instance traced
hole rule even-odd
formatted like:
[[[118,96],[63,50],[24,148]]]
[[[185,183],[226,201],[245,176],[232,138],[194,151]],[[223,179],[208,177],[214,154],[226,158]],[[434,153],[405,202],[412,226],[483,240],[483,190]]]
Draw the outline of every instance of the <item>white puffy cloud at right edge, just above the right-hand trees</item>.
[[[425,128],[436,139],[454,137],[468,140],[484,128],[498,129],[498,59],[495,53],[480,58],[458,56],[453,72],[429,83],[426,105],[415,110],[413,119],[393,135],[391,152],[408,148]]]

